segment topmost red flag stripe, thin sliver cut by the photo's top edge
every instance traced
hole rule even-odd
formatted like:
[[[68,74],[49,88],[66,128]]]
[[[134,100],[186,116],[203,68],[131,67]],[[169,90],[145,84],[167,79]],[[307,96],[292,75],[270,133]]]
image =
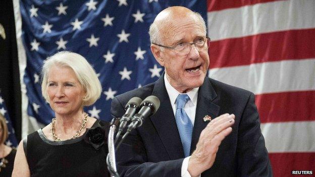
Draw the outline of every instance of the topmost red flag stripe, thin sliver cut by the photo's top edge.
[[[224,9],[230,9],[230,8],[239,8],[242,6],[249,6],[254,5],[258,3],[268,3],[268,2],[274,2],[274,1],[280,1],[280,0],[241,0],[241,1],[231,1],[231,0],[208,0],[207,1],[207,11],[220,11]]]

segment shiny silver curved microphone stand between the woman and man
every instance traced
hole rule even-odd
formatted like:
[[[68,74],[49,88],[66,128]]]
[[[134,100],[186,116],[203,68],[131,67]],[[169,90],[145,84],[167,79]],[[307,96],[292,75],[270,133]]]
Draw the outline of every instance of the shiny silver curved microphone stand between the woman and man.
[[[119,118],[120,119],[120,118]],[[120,177],[117,168],[116,168],[116,158],[115,158],[115,140],[114,135],[117,126],[117,123],[119,125],[119,119],[113,119],[110,127],[110,132],[108,136],[108,149],[109,153],[107,154],[106,163],[107,167],[109,169],[109,172],[111,173],[112,177]]]

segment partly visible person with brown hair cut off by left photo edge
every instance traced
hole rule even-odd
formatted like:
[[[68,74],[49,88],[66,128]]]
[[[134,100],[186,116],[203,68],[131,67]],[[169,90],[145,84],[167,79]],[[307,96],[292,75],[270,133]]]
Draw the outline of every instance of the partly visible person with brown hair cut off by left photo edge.
[[[8,127],[5,117],[0,113],[0,176],[11,176],[16,150],[5,145]]]

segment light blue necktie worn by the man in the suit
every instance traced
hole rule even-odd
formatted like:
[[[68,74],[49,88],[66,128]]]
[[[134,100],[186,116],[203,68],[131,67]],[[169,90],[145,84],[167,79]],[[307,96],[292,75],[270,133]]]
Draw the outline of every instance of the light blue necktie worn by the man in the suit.
[[[190,155],[190,144],[193,126],[191,121],[184,110],[186,102],[189,100],[187,94],[179,94],[176,98],[176,114],[175,120],[177,129],[183,144],[185,157]]]

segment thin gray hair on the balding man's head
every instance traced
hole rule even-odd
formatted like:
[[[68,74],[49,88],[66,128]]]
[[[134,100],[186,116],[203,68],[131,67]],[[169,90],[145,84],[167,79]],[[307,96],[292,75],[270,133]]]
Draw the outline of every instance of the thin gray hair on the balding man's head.
[[[193,12],[193,13],[196,16],[196,18],[198,19],[198,21],[201,23],[202,28],[204,29],[204,34],[206,34],[206,25],[205,25],[205,21],[203,20],[202,16],[197,12]],[[149,35],[150,35],[151,44],[152,43],[162,44],[160,28],[158,27],[157,23],[158,22],[156,22],[154,20],[153,23],[150,25],[150,28],[149,28]],[[170,23],[170,20],[167,19],[163,23]]]

